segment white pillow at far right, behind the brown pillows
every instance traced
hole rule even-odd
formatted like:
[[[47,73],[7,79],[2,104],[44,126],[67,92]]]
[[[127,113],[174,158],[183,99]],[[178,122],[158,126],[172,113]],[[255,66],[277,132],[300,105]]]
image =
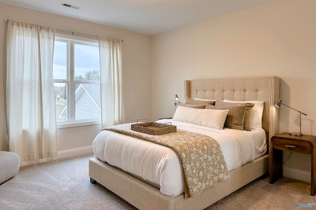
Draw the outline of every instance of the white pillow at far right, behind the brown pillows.
[[[251,113],[251,121],[250,121],[250,128],[254,130],[261,131],[262,129],[262,113],[263,113],[263,101],[230,101],[224,99],[223,102],[230,102],[230,103],[252,103],[254,104]]]

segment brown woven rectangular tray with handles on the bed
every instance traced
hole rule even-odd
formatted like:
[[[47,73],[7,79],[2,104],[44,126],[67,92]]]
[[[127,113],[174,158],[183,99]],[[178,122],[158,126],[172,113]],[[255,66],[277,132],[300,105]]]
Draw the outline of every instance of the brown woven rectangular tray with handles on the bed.
[[[144,120],[144,119],[139,119],[139,120]],[[150,134],[150,135],[162,135],[162,134],[168,134],[172,132],[177,131],[177,127],[174,125],[170,125],[167,123],[157,123],[157,122],[146,122],[146,123],[137,123],[131,125],[131,129],[133,131],[138,131],[141,133],[145,134]],[[147,120],[147,119],[146,119]]]

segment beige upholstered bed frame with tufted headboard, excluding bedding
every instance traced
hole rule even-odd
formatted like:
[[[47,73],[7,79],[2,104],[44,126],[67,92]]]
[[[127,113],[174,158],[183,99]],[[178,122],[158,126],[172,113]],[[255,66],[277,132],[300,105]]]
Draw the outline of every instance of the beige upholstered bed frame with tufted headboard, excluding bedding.
[[[279,98],[278,77],[186,80],[184,85],[186,99],[263,101],[261,126],[267,143],[274,134],[278,133],[278,110],[274,107],[274,103]],[[181,126],[185,127],[180,123]],[[102,158],[89,160],[90,181],[99,182],[138,209],[204,209],[254,179],[267,174],[269,169],[269,155],[258,153],[255,159],[245,161],[238,168],[231,168],[228,180],[217,183],[196,196],[185,198],[182,193],[162,194],[155,183],[125,173],[100,159]]]

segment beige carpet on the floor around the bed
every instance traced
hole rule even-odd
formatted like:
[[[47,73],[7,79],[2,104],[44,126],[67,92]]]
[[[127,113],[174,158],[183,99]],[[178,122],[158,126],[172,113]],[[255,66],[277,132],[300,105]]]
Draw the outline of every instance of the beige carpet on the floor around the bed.
[[[0,210],[136,210],[100,184],[90,183],[90,157],[93,155],[22,167],[0,184]],[[316,210],[316,196],[310,196],[309,184],[286,177],[270,184],[266,177],[206,210],[294,210],[298,203]]]

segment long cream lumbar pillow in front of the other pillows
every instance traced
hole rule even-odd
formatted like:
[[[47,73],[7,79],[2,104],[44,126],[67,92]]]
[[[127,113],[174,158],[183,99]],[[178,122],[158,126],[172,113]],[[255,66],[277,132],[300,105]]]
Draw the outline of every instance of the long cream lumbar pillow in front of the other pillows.
[[[228,111],[178,106],[172,119],[223,130]]]

